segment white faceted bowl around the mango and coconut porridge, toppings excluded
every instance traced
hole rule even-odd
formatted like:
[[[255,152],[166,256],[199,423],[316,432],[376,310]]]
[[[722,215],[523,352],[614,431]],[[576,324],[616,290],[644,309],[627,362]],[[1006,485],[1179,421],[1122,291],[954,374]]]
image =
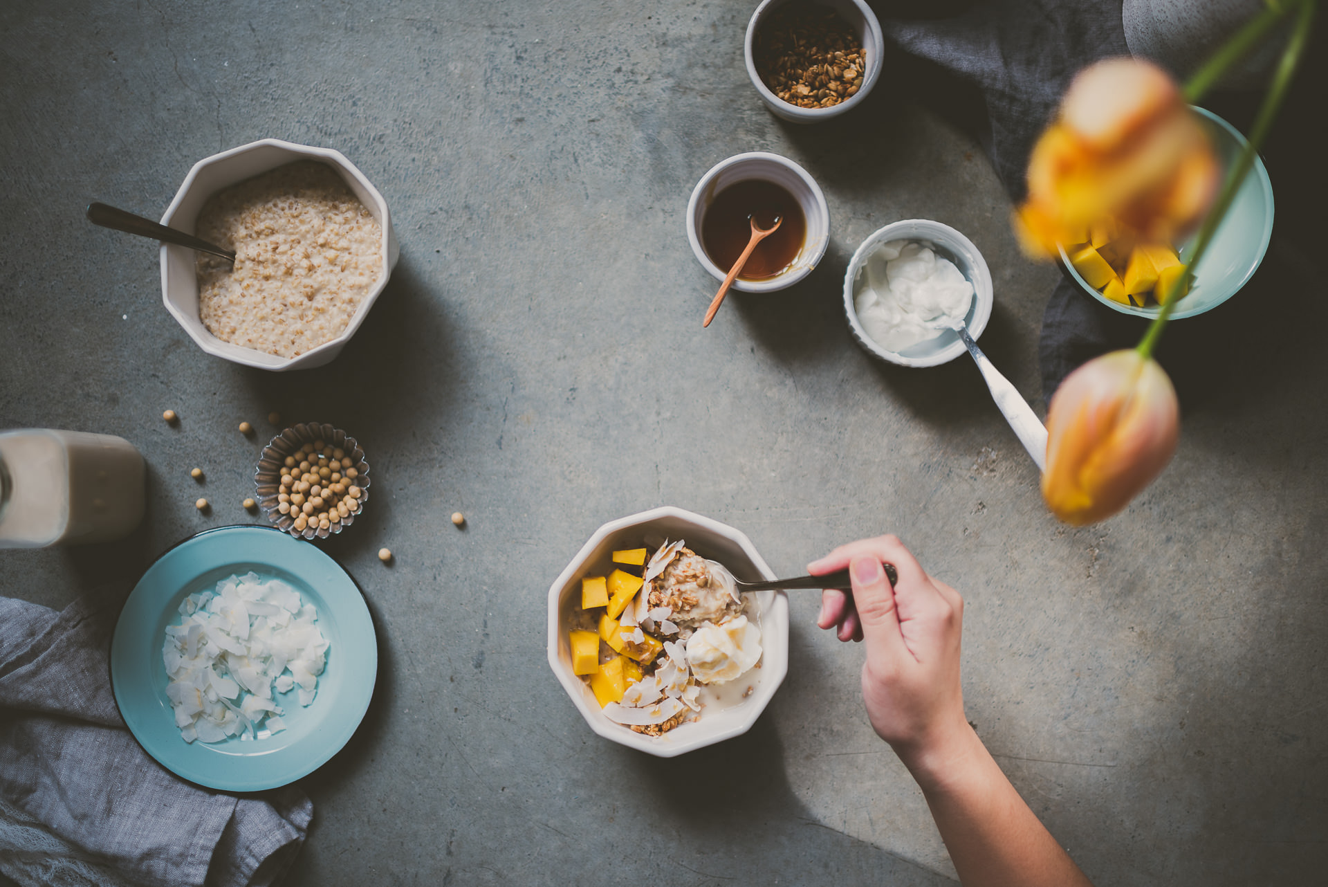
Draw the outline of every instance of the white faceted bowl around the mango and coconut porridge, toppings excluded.
[[[697,555],[718,562],[746,582],[774,579],[776,575],[745,534],[700,514],[665,506],[602,526],[550,586],[548,665],[586,724],[606,740],[671,758],[741,736],[756,724],[789,671],[789,600],[784,592],[748,592],[752,600],[744,615],[760,629],[761,653],[756,667],[737,680],[706,686],[700,696],[699,717],[663,736],[632,732],[611,721],[591,688],[574,673],[568,636],[575,628],[574,611],[582,602],[582,579],[610,568],[610,555],[615,550],[653,544],[648,539],[683,539]]]

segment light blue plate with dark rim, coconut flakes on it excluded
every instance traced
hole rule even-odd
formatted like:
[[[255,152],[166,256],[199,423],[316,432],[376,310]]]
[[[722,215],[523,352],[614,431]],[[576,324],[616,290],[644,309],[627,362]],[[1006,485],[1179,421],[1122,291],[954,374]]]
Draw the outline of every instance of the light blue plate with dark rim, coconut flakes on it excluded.
[[[293,690],[279,693],[280,733],[186,742],[166,698],[166,627],[179,624],[186,595],[251,570],[290,583],[317,608],[328,639],[317,696],[303,708]],[[223,791],[275,789],[323,766],[364,718],[377,672],[373,621],[355,580],[312,543],[268,527],[207,530],[163,554],[130,592],[110,643],[110,683],[134,738],[167,770]]]

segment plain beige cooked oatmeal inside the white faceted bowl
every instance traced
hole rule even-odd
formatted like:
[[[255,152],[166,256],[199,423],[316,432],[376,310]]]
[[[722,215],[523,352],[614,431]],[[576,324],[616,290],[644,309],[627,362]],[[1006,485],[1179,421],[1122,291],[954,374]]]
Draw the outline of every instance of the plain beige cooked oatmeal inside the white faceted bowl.
[[[198,315],[235,345],[297,357],[336,339],[384,274],[382,230],[336,171],[287,163],[218,191],[198,236]]]

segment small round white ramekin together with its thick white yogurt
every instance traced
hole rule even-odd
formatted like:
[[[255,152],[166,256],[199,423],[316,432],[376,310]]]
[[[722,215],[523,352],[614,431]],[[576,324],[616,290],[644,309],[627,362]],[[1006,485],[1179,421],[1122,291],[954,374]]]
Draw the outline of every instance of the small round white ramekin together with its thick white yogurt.
[[[954,329],[973,339],[992,313],[992,275],[963,234],[930,219],[904,219],[858,247],[843,276],[849,329],[874,357],[900,366],[936,366],[964,353]]]

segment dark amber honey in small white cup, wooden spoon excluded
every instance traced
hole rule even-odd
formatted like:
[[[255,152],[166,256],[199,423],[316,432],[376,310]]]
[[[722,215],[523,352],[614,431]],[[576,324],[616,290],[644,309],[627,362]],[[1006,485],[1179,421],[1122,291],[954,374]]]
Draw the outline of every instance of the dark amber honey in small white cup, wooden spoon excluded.
[[[701,246],[728,274],[752,239],[749,219],[769,228],[776,218],[784,219],[780,230],[756,244],[738,274],[738,280],[769,280],[798,258],[807,239],[807,220],[797,198],[774,182],[745,179],[716,194],[701,216]]]

